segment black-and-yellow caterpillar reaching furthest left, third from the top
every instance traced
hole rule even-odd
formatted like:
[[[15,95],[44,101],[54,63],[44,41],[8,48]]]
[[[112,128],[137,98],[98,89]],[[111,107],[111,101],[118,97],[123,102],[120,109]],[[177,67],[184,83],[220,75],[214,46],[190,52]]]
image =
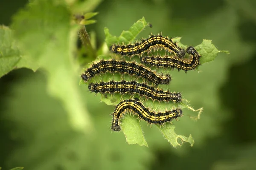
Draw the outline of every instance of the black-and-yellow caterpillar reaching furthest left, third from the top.
[[[81,74],[81,78],[84,82],[87,82],[88,79],[94,77],[96,74],[106,73],[106,72],[119,72],[120,74],[129,74],[135,75],[137,77],[142,77],[143,79],[153,82],[156,85],[160,84],[169,84],[171,77],[169,74],[161,76],[156,74],[155,71],[150,70],[144,65],[137,62],[128,62],[128,61],[118,61],[118,60],[101,60],[93,65],[90,68]]]

